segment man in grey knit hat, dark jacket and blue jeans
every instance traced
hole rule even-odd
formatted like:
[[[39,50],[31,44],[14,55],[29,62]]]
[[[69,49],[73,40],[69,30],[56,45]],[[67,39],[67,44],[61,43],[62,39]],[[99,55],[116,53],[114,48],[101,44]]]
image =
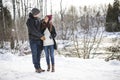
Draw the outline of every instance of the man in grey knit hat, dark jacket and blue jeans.
[[[45,40],[45,37],[43,34],[41,34],[41,21],[39,19],[39,16],[40,10],[37,8],[33,8],[32,11],[29,13],[29,18],[26,23],[29,34],[30,48],[32,52],[32,61],[37,73],[45,71],[41,69],[40,65],[41,52],[43,49],[43,40]]]

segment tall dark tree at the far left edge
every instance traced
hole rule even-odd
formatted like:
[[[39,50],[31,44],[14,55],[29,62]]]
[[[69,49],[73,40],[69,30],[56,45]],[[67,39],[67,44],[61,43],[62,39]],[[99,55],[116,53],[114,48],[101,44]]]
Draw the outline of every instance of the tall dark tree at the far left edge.
[[[2,0],[0,1],[0,19],[0,45],[4,48],[5,43],[11,38],[12,19],[10,11],[3,6]]]

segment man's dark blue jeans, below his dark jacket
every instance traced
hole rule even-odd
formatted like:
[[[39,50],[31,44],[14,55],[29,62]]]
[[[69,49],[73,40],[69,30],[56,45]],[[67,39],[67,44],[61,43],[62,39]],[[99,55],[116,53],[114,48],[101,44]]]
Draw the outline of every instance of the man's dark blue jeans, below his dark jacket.
[[[30,40],[30,48],[32,52],[32,61],[35,69],[41,68],[40,66],[40,58],[42,52],[42,42],[37,40]]]

